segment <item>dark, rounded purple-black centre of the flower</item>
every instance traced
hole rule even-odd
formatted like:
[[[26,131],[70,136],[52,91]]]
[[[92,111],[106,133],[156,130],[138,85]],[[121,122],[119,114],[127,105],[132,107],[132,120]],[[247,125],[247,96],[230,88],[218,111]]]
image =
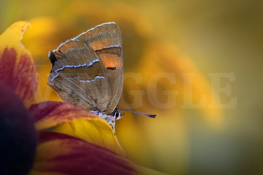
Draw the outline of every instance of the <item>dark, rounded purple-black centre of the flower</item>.
[[[37,132],[32,115],[15,93],[0,82],[0,169],[2,174],[26,174],[32,166]]]

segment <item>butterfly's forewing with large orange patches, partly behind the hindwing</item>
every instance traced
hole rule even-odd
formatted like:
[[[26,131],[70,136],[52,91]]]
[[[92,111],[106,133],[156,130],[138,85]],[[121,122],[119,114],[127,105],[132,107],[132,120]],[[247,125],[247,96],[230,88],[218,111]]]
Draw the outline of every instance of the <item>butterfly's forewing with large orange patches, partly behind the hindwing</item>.
[[[123,89],[123,38],[116,23],[104,23],[90,29],[80,37],[97,53],[110,84],[111,99],[106,113],[117,107]]]

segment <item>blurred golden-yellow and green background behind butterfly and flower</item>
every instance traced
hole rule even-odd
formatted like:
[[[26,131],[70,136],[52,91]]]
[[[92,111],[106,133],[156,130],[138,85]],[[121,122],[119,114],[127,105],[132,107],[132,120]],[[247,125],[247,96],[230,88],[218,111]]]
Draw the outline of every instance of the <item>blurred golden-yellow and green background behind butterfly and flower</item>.
[[[1,0],[0,32],[31,23],[22,43],[37,65],[38,103],[60,100],[46,84],[49,50],[116,22],[125,64],[119,108],[158,114],[126,113],[116,122],[127,158],[170,174],[262,174],[262,8],[237,0]],[[218,93],[211,73],[232,77],[219,82],[229,94]],[[211,105],[218,99],[236,103]]]

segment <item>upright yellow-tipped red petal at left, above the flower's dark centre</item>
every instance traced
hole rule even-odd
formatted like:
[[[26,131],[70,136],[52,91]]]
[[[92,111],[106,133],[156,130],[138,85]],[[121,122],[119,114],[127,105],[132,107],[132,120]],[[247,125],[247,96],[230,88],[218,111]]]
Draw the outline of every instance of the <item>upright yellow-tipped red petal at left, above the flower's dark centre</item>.
[[[22,35],[29,23],[12,24],[0,36],[0,81],[9,86],[28,108],[37,90],[37,70]]]

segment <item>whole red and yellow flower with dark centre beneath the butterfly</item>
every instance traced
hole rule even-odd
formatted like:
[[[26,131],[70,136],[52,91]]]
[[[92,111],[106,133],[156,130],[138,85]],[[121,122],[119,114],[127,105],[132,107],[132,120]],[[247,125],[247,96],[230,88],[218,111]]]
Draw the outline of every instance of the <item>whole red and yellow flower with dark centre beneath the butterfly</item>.
[[[27,25],[16,22],[0,36],[1,131],[7,128],[0,139],[8,141],[1,142],[6,152],[1,158],[9,160],[1,165],[6,174],[162,174],[125,158],[101,117],[65,102],[32,104],[37,71],[20,43]]]

